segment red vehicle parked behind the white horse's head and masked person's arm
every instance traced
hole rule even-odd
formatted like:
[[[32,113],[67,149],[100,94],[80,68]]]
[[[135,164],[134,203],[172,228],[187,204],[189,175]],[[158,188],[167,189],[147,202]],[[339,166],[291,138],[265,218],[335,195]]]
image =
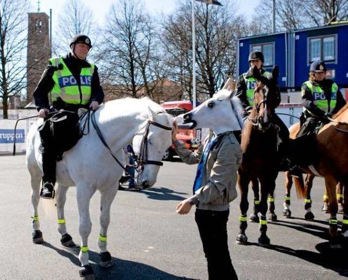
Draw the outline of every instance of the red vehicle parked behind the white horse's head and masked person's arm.
[[[184,114],[192,110],[193,106],[189,100],[180,101],[167,101],[161,104],[171,115],[177,116]],[[184,129],[183,126],[179,126],[177,129],[176,139],[181,140],[187,149],[192,151],[196,150],[200,141],[200,130]],[[165,153],[163,160],[172,160],[176,155],[174,145],[172,145]]]

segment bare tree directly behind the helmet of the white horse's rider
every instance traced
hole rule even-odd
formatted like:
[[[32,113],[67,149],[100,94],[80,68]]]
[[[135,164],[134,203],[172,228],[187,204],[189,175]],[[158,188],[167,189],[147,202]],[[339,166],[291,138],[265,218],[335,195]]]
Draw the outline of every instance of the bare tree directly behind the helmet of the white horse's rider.
[[[66,52],[72,37],[80,33],[91,37],[95,27],[93,13],[82,0],[66,1],[58,19],[52,52],[57,56]],[[95,45],[95,39],[92,44]]]

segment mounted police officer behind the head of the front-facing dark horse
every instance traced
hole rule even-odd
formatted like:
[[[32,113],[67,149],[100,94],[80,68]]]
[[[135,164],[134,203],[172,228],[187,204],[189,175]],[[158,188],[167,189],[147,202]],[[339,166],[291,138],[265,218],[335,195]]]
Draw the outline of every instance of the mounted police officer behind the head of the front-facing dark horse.
[[[254,92],[257,84],[257,80],[253,76],[253,68],[257,67],[260,71],[261,76],[270,80],[272,78],[272,74],[265,71],[263,68],[264,57],[261,51],[252,51],[249,54],[249,65],[250,68],[248,72],[242,74],[237,82],[237,93],[236,96],[241,100],[242,106],[244,108],[244,116],[249,116],[252,106],[254,105]],[[280,104],[280,91],[279,87],[277,87],[277,100],[274,103],[274,110]],[[279,168],[280,170],[287,170],[290,168],[290,163],[287,155],[287,150],[289,146],[289,130],[284,124],[284,122],[278,117],[278,115],[273,112],[272,114],[272,122],[276,126],[278,126],[278,135],[281,139],[281,145],[279,145],[278,149],[278,157],[279,157]],[[238,141],[241,142],[240,136],[237,137]]]

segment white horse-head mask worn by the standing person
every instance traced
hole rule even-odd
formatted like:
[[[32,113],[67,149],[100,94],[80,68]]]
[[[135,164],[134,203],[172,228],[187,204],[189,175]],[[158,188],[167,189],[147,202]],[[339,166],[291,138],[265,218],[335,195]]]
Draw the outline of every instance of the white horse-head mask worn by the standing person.
[[[228,90],[220,90],[189,112],[195,128],[210,128],[215,134],[242,130],[243,108],[238,97]],[[179,118],[178,118],[179,119]]]

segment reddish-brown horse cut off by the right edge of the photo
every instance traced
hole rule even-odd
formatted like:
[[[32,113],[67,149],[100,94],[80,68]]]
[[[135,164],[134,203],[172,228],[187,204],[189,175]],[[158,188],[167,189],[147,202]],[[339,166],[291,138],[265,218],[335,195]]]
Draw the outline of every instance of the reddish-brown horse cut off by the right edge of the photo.
[[[340,239],[337,232],[336,186],[341,182],[344,188],[344,216],[342,220],[342,233],[348,239],[348,104],[337,114],[333,121],[325,125],[317,136],[318,159],[308,168],[307,173],[321,176],[325,179],[325,187],[330,203],[330,245],[332,248],[340,248]],[[297,190],[305,193],[303,180],[294,181]]]

